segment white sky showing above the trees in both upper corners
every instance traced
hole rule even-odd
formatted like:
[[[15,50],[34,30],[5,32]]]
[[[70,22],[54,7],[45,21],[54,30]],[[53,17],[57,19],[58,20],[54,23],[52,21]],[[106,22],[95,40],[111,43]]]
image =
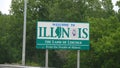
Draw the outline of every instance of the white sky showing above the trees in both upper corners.
[[[113,5],[114,5],[114,10],[118,10],[118,7],[115,6],[115,3],[118,0],[112,0]],[[0,0],[0,11],[3,14],[9,14],[9,10],[10,10],[10,5],[11,5],[11,0]]]

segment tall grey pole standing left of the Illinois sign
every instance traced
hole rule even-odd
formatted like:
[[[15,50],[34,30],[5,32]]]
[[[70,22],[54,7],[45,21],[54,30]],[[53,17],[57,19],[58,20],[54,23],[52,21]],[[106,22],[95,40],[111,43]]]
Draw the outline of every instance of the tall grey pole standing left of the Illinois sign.
[[[24,0],[24,27],[23,27],[23,49],[22,49],[22,65],[25,65],[25,49],[26,49],[26,11],[27,0]]]

